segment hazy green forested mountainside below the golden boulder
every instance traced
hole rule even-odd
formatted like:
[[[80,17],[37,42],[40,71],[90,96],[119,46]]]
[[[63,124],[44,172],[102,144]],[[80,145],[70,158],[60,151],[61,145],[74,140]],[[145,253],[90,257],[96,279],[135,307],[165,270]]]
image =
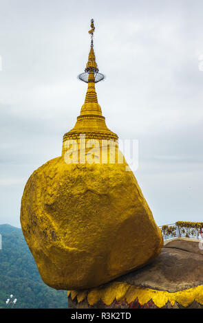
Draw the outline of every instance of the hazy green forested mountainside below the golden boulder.
[[[67,309],[67,292],[45,285],[21,229],[0,225],[0,309],[10,294],[17,298],[18,309]]]

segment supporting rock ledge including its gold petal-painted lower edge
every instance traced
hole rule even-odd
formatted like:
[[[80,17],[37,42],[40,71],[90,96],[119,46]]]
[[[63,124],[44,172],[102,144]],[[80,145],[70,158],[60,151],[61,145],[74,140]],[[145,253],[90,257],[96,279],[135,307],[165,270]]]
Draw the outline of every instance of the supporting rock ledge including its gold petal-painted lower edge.
[[[153,263],[96,289],[69,292],[70,308],[203,307],[203,251],[178,239]]]

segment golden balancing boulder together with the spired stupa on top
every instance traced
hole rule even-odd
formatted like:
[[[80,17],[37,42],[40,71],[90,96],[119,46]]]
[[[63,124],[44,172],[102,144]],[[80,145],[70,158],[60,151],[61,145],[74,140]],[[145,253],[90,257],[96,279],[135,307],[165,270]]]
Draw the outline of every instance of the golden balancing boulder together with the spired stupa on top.
[[[94,21],[85,73],[85,103],[65,133],[61,157],[33,172],[21,201],[21,227],[43,281],[87,289],[150,263],[162,234],[140,187],[105,124],[95,83]],[[128,170],[128,171],[127,171]]]

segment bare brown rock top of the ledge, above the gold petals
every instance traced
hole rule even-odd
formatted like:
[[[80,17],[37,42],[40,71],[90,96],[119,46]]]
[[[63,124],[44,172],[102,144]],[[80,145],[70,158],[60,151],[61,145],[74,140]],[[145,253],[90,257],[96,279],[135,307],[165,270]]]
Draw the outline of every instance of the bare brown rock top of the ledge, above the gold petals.
[[[199,249],[199,243],[175,239],[164,245],[153,263],[122,276],[122,280],[136,286],[175,292],[202,285],[202,268],[203,250]]]

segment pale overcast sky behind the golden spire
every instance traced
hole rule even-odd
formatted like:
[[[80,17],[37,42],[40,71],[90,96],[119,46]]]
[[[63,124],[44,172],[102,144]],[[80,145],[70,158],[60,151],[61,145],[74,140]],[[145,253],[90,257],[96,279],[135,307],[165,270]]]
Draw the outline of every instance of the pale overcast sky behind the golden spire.
[[[139,142],[135,175],[154,219],[203,221],[203,1],[0,4],[0,224],[20,226],[26,181],[76,122],[92,18],[98,102],[111,131]]]

